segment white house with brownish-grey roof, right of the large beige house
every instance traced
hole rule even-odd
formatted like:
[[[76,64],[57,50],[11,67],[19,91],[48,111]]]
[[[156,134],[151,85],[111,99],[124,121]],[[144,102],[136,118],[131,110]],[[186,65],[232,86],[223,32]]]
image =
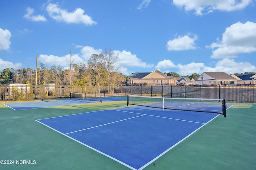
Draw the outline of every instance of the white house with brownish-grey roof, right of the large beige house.
[[[196,80],[196,85],[237,84],[237,79],[225,72],[203,72]]]

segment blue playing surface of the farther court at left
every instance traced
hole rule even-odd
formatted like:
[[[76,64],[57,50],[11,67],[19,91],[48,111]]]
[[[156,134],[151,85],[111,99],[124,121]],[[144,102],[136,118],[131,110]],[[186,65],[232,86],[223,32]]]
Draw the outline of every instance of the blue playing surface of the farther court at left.
[[[113,101],[125,101],[126,98],[118,97],[105,97],[102,98],[102,102],[113,102]],[[14,110],[25,110],[25,109],[39,109],[46,107],[57,107],[57,106],[71,106],[78,104],[89,104],[96,103],[97,101],[90,100],[40,100],[35,102],[20,102],[20,103],[7,103],[4,104]]]

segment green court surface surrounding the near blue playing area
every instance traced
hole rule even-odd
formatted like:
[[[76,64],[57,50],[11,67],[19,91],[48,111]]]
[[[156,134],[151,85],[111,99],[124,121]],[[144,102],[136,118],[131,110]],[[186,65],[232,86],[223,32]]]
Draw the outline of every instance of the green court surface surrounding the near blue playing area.
[[[232,105],[144,170],[256,169],[256,104]],[[35,121],[118,107],[126,102],[19,111],[0,103],[0,170],[130,170]]]

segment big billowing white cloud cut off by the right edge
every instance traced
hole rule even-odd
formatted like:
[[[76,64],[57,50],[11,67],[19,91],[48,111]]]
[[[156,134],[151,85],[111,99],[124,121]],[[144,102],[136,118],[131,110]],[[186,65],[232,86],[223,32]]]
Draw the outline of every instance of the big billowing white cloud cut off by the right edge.
[[[256,23],[234,23],[227,27],[222,34],[222,40],[212,43],[213,49],[211,58],[234,58],[241,53],[256,51]]]

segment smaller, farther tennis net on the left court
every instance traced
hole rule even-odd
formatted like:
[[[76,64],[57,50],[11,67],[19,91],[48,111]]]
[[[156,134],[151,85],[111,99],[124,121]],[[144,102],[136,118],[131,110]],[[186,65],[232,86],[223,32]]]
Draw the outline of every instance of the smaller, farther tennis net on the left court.
[[[74,93],[70,92],[70,99],[77,99],[77,100],[90,100],[90,101],[97,101],[102,103],[102,95],[99,94],[90,94],[90,93]]]

